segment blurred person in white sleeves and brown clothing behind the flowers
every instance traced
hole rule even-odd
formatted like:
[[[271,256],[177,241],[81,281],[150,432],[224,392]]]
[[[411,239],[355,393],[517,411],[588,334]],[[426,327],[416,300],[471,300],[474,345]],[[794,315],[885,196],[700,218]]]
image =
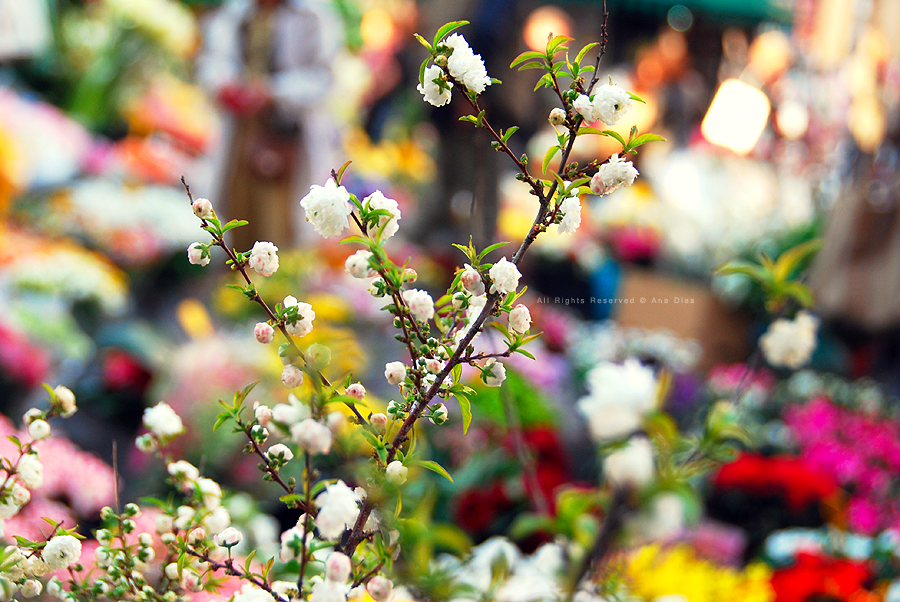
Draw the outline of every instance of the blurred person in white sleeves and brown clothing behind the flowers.
[[[238,250],[295,243],[297,201],[335,167],[325,97],[340,23],[324,0],[228,0],[203,31],[197,78],[227,116],[214,203],[250,222],[232,231]]]

